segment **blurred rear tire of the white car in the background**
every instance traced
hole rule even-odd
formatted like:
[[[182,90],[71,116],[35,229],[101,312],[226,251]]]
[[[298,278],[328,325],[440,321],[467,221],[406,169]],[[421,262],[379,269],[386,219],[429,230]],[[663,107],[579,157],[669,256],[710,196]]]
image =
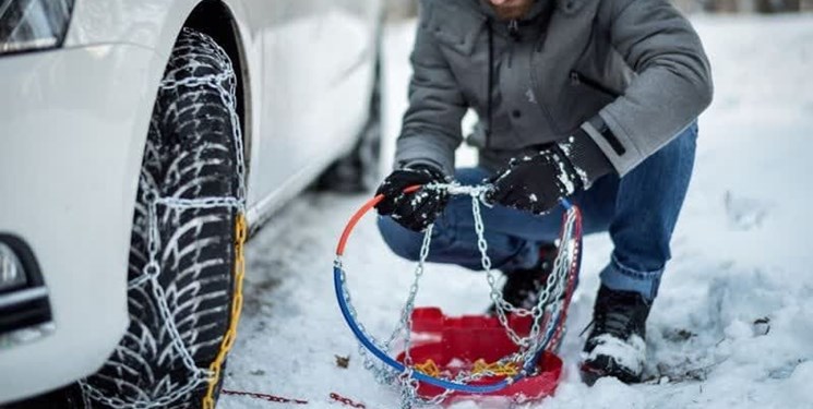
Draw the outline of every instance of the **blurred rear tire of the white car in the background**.
[[[370,97],[370,113],[358,142],[346,156],[333,163],[316,180],[319,191],[363,193],[374,189],[380,179],[381,164],[381,74],[375,63],[375,80]]]

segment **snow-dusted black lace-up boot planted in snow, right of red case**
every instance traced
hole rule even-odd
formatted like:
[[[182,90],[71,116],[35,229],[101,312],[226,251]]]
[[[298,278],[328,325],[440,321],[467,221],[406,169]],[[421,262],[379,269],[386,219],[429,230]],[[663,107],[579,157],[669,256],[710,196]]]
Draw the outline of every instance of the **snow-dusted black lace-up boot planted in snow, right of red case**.
[[[593,330],[583,351],[582,380],[586,384],[593,385],[605,376],[624,383],[641,382],[650,308],[651,301],[637,292],[601,285],[593,310]]]

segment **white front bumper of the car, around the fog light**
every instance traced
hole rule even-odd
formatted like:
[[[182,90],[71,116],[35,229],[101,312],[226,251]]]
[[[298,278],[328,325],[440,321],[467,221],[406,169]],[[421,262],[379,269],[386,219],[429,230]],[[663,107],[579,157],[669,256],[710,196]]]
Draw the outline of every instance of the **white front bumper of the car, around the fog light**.
[[[31,246],[53,320],[45,336],[0,344],[0,404],[94,373],[127,328],[156,67],[130,45],[0,57],[0,233]]]

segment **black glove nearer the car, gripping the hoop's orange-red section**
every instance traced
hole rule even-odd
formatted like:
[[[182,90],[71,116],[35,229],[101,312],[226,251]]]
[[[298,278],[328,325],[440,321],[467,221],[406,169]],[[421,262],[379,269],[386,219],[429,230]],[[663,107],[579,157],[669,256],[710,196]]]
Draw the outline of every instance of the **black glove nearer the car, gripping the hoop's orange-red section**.
[[[404,189],[416,184],[445,182],[443,172],[430,166],[417,165],[395,170],[375,191],[376,195],[384,195],[384,200],[379,202],[375,208],[380,215],[391,215],[393,220],[409,230],[422,231],[443,212],[449,202],[449,194],[445,191],[430,189],[404,193]]]

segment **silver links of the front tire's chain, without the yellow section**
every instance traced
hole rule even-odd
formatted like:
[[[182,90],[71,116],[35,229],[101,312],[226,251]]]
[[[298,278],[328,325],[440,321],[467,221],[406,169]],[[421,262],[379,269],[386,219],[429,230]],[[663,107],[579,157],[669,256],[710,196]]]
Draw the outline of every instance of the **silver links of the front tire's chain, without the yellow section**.
[[[180,197],[162,197],[155,190],[144,191],[144,201],[147,205],[147,252],[148,262],[144,265],[142,275],[133,278],[128,284],[128,289],[135,287],[152,286],[152,294],[158,305],[159,313],[166,329],[168,330],[172,348],[179,353],[183,365],[189,372],[186,384],[178,386],[172,393],[165,394],[159,398],[141,396],[112,397],[105,394],[86,381],[81,381],[83,399],[89,408],[89,401],[97,401],[110,408],[116,409],[153,409],[171,407],[174,402],[184,398],[198,389],[201,385],[206,384],[212,377],[212,371],[204,368],[198,368],[192,358],[189,348],[183,344],[183,339],[178,330],[177,323],[172,312],[167,304],[167,297],[159,282],[162,267],[159,263],[159,251],[163,248],[160,242],[160,232],[158,228],[158,206],[165,206],[175,212],[188,209],[208,209],[208,208],[234,208],[240,214],[246,212],[246,160],[243,154],[242,133],[240,131],[240,119],[237,115],[237,104],[235,101],[236,76],[230,65],[224,67],[225,72],[199,77],[189,77],[184,80],[165,80],[160,87],[198,87],[207,86],[215,89],[225,107],[228,108],[231,120],[231,139],[236,157],[236,179],[237,192],[235,196],[212,196],[201,199],[180,199]]]

